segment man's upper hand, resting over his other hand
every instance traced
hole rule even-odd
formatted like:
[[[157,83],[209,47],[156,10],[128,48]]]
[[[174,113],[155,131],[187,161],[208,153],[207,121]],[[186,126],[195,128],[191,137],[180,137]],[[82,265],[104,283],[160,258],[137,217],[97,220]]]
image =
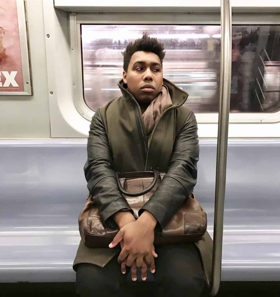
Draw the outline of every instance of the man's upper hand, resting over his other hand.
[[[142,267],[143,259],[147,264],[152,264],[153,256],[156,255],[153,245],[156,222],[155,217],[149,211],[144,211],[137,221],[128,223],[120,229],[109,244],[109,247],[113,248],[122,240],[124,241],[123,249],[118,257],[119,263],[127,258],[127,266],[132,266],[136,260],[136,266]]]

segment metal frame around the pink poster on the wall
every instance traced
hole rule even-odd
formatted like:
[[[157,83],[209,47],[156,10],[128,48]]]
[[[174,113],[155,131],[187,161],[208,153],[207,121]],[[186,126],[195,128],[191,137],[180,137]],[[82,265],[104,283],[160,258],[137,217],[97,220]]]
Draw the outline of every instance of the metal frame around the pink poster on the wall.
[[[15,92],[0,91],[0,96],[32,95],[25,2],[24,0],[16,0],[16,4],[17,4],[17,21],[18,21],[18,31],[19,31],[19,37],[20,37],[20,52],[21,52],[24,91],[15,91]]]

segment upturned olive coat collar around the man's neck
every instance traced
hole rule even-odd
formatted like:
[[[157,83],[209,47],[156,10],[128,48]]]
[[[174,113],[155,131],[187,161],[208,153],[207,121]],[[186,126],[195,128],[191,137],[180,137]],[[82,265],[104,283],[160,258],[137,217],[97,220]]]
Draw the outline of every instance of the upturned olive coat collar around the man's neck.
[[[171,83],[171,81],[167,80],[166,78],[163,78],[163,84],[166,85],[168,88],[173,107],[183,105],[185,103],[187,97],[189,96],[187,92],[178,88],[174,83]],[[123,82],[123,80],[119,81],[118,86],[123,94],[125,101],[133,98],[131,93],[127,90],[127,85]]]

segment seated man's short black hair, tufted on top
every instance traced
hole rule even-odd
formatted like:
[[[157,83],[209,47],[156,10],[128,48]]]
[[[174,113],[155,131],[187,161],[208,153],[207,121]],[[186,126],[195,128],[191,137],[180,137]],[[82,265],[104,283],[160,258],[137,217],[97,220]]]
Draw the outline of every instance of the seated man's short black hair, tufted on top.
[[[157,38],[149,37],[147,33],[139,39],[129,42],[125,48],[123,54],[123,70],[127,72],[128,64],[131,60],[131,56],[138,51],[152,52],[158,55],[162,66],[162,61],[165,56],[164,44],[158,42]]]

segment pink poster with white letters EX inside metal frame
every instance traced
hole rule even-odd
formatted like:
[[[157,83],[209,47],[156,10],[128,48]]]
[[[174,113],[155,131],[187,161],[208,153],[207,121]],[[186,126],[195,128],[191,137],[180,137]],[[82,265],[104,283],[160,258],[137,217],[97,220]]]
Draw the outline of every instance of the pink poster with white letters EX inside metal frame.
[[[16,0],[0,1],[0,92],[23,92]],[[1,94],[1,93],[0,93]]]

